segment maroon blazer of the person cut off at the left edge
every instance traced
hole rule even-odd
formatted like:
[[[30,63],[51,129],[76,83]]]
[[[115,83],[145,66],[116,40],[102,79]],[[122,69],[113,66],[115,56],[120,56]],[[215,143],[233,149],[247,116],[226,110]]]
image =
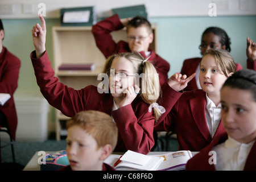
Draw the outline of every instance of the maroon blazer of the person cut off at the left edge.
[[[14,103],[13,94],[18,88],[20,60],[14,56],[7,48],[3,47],[0,53],[0,93],[9,93],[11,98],[0,105],[0,110],[6,116],[11,137],[15,140],[18,117]]]

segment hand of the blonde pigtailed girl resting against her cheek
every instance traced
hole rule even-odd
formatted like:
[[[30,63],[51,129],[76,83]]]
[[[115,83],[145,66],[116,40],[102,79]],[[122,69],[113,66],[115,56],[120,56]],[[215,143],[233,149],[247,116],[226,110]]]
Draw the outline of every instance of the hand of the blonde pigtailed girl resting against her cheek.
[[[137,97],[139,90],[140,90],[140,88],[138,85],[129,86],[129,88],[127,88],[126,92],[123,93],[125,98],[123,98],[123,100],[120,102],[119,107],[123,107],[123,106],[131,104],[131,102],[133,102],[133,100]]]

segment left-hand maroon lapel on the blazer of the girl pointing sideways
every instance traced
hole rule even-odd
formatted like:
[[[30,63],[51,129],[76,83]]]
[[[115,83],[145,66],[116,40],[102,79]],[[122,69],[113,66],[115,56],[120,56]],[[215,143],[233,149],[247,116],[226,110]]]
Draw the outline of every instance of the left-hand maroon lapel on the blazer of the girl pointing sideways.
[[[205,140],[210,142],[212,138],[210,137],[210,132],[205,117],[205,92],[203,90],[197,91],[194,96],[195,98],[189,100],[191,113],[201,134],[204,136]]]

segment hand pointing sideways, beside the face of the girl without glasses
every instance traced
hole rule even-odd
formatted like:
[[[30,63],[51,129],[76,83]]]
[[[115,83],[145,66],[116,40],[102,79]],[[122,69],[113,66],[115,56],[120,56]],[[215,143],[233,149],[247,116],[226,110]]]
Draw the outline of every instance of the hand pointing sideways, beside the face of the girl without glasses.
[[[168,85],[179,92],[180,90],[183,90],[187,85],[188,82],[193,79],[193,77],[196,76],[196,73],[193,73],[191,76],[187,78],[187,75],[181,75],[175,73],[168,79]]]

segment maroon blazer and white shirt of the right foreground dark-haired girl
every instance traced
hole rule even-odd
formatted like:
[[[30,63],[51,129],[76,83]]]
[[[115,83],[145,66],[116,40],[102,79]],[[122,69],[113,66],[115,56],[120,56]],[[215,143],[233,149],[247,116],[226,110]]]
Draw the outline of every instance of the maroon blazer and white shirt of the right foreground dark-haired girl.
[[[196,154],[192,159],[188,160],[186,170],[255,171],[255,152],[255,140],[249,144],[239,143],[226,135],[225,138],[214,140],[207,147],[203,148],[199,154]]]

